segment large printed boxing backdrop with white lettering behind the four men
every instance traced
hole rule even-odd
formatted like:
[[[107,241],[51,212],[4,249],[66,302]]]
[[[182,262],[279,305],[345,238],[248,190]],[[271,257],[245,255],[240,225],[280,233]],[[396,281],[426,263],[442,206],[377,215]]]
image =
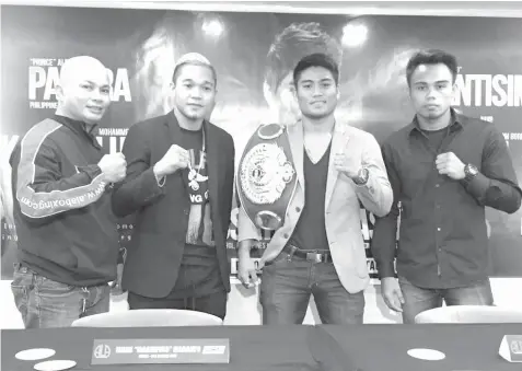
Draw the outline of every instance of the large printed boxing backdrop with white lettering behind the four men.
[[[274,13],[210,13],[163,10],[1,8],[1,141],[5,162],[13,144],[56,107],[63,59],[90,55],[114,74],[113,104],[100,142],[119,151],[128,128],[171,109],[167,84],[174,63],[188,51],[204,54],[218,71],[218,102],[211,120],[234,138],[237,156],[263,123],[294,114],[288,73],[322,44],[341,63],[337,119],[362,128],[379,141],[408,124],[405,66],[417,48],[434,47],[460,61],[454,106],[494,123],[504,134],[522,179],[522,20],[429,16],[358,16]],[[313,45],[313,46],[311,46]],[[336,48],[336,45],[338,46]],[[237,162],[237,161],[236,161]],[[9,171],[2,171],[2,192]],[[5,199],[9,201],[9,199]],[[4,202],[5,202],[4,200]],[[3,215],[3,212],[2,212]],[[368,243],[373,217],[361,210]],[[229,255],[236,271],[236,218],[232,212]],[[522,211],[487,211],[490,275],[522,276]],[[118,223],[130,241],[132,219]],[[265,234],[260,256],[270,235]],[[12,274],[16,235],[2,219],[2,278]],[[368,266],[376,278],[369,248]],[[375,279],[374,282],[378,282]]]

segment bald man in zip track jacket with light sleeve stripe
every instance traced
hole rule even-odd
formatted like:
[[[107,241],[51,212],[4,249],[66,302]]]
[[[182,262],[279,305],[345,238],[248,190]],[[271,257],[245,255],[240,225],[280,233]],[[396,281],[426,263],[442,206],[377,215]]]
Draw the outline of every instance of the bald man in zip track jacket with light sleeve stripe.
[[[107,72],[92,57],[68,59],[55,116],[11,156],[19,237],[11,288],[26,328],[66,327],[109,308],[118,258],[109,184],[125,177],[126,162],[94,137],[111,102]]]

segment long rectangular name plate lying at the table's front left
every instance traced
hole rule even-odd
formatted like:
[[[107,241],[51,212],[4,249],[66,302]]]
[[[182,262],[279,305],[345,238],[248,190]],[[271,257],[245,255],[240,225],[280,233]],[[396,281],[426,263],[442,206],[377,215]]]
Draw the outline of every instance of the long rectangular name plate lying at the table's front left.
[[[229,339],[94,339],[91,364],[229,361]]]

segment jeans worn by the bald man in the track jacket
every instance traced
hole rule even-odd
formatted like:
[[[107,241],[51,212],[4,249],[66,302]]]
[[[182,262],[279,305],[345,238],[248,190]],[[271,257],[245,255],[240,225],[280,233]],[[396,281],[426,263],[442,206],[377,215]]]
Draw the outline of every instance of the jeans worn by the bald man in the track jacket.
[[[108,312],[107,283],[76,287],[56,282],[15,264],[11,291],[25,328],[68,327],[74,320]]]

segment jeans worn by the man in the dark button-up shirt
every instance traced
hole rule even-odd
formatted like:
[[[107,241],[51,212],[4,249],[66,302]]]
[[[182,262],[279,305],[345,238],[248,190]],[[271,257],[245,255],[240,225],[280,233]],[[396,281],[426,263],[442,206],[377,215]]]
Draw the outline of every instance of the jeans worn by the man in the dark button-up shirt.
[[[424,289],[398,277],[405,303],[403,304],[403,323],[415,323],[420,312],[446,305],[494,305],[494,297],[489,278],[466,287],[452,289]]]

